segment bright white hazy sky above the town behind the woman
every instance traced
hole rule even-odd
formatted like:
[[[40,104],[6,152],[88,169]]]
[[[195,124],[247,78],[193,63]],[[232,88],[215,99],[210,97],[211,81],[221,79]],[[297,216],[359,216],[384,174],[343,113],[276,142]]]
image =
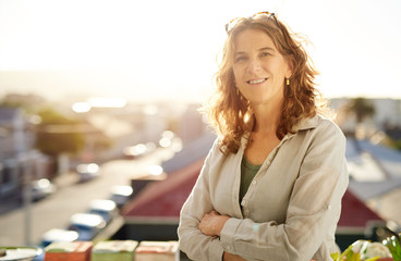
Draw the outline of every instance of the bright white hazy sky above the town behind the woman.
[[[259,11],[308,36],[326,96],[401,98],[399,0],[0,0],[0,96],[203,99],[224,24]]]

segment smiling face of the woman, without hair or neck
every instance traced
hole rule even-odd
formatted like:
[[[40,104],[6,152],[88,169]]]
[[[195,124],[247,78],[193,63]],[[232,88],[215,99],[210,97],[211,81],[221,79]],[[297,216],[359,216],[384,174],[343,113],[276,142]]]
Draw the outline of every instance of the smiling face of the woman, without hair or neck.
[[[281,101],[291,76],[289,62],[259,29],[245,29],[234,39],[233,72],[235,86],[253,104]]]

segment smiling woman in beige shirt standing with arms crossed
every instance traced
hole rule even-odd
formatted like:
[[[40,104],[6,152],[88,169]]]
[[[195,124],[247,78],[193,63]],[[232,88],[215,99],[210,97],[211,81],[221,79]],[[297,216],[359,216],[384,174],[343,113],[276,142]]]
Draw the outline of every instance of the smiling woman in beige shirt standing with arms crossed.
[[[271,13],[227,32],[208,108],[219,138],[181,210],[180,248],[193,260],[331,260],[345,138],[321,115],[316,72]]]

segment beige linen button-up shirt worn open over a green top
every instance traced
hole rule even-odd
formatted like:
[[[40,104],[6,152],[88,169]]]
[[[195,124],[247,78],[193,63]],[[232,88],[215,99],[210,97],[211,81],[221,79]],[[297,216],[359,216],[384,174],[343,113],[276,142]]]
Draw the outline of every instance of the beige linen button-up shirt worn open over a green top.
[[[345,138],[319,115],[294,129],[265,160],[241,206],[241,160],[247,139],[229,156],[220,152],[218,141],[214,144],[180,215],[180,248],[192,260],[221,260],[223,251],[246,260],[331,260],[349,182]],[[211,210],[231,216],[220,237],[198,229]]]

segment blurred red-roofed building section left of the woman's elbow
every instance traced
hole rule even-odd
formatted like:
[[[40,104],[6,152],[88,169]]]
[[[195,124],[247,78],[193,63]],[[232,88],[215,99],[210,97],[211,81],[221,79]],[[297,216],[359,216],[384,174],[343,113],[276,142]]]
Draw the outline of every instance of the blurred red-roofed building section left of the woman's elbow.
[[[204,158],[149,183],[121,211],[124,225],[114,238],[177,240],[180,210],[199,174]]]

